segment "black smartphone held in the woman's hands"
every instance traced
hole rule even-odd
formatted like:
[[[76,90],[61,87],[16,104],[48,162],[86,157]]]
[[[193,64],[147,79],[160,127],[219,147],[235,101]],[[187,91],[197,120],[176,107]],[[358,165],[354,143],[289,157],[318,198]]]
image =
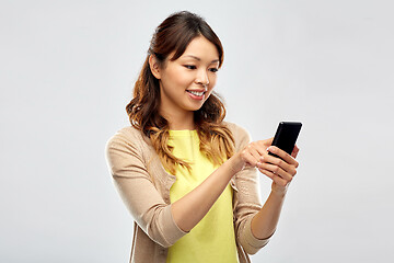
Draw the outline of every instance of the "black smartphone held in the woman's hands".
[[[294,149],[297,138],[300,134],[301,126],[302,124],[297,122],[280,122],[273,140],[273,146],[276,146],[291,155],[292,150]],[[268,155],[278,157],[271,152]]]

